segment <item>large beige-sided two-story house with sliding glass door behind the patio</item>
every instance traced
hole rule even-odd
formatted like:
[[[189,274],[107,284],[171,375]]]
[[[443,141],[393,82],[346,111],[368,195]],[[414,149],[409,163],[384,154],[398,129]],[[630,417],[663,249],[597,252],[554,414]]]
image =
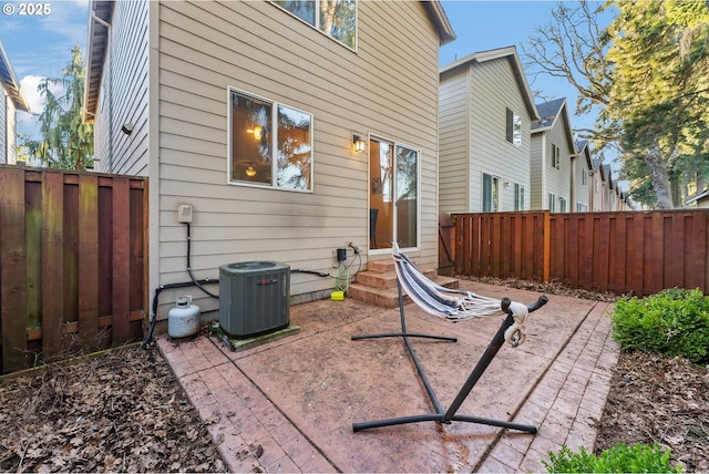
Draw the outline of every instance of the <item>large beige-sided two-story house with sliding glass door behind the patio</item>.
[[[96,171],[150,177],[151,292],[186,280],[181,204],[193,206],[197,279],[282,261],[307,271],[291,275],[292,302],[329,295],[335,280],[316,274],[337,274],[336,250],[349,243],[363,265],[390,258],[391,240],[438,265],[448,18],[438,1],[319,6],[92,1]],[[167,295],[161,318],[178,296]]]

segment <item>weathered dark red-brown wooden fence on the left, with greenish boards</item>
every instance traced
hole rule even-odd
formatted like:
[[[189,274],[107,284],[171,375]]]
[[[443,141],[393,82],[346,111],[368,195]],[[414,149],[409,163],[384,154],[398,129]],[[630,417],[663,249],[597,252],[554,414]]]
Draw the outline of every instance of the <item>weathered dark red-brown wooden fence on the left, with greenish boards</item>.
[[[0,372],[143,337],[145,178],[0,166]]]

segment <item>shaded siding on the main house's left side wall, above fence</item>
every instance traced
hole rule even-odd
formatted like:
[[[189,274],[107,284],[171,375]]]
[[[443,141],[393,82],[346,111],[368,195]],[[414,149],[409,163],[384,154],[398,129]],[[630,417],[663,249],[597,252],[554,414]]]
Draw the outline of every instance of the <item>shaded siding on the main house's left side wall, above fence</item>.
[[[95,128],[97,171],[147,175],[147,2],[114,4]],[[126,123],[130,135],[121,131]]]

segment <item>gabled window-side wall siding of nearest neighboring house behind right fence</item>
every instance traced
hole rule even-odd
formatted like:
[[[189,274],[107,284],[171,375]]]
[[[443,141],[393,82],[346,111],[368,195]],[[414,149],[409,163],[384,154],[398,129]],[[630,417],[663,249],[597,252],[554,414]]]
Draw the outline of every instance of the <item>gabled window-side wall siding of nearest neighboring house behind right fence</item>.
[[[527,107],[508,58],[475,63],[471,68],[472,138],[471,208],[482,210],[483,174],[501,177],[500,210],[514,210],[514,186],[530,188],[530,124]],[[506,110],[522,120],[522,145],[506,140]],[[511,183],[503,186],[503,182]],[[527,199],[525,193],[525,200]],[[526,207],[526,205],[525,205]]]

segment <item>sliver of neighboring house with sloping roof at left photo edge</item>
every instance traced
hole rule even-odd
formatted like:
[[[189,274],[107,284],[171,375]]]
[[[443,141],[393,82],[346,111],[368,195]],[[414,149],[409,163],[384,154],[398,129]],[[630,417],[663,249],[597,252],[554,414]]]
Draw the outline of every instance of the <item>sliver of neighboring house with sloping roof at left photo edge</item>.
[[[14,75],[10,59],[0,41],[0,164],[17,163],[17,111],[29,112],[30,107],[22,95],[20,82]]]

